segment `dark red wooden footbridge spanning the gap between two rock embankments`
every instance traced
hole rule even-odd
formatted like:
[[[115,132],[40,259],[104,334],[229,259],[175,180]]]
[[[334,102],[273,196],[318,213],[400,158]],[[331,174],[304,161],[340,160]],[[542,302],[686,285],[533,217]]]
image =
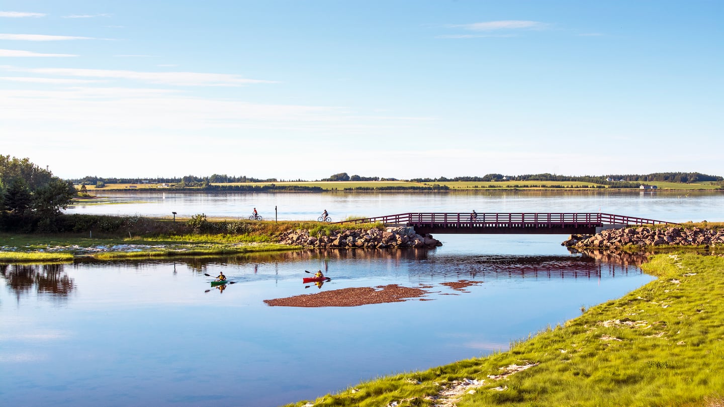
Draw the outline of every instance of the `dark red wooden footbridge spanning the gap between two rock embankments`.
[[[672,224],[654,219],[614,214],[590,213],[408,213],[352,219],[337,223],[374,223],[411,226],[424,233],[508,233],[508,234],[573,234],[595,233],[603,229],[629,225]]]

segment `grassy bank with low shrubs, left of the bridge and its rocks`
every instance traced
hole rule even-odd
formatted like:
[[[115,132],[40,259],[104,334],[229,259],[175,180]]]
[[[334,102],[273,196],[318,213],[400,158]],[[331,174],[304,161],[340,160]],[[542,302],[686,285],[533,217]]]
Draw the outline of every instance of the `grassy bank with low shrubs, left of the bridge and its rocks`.
[[[255,222],[248,220],[153,219],[68,215],[63,222],[93,232],[55,234],[0,233],[0,262],[68,261],[77,256],[96,259],[144,259],[174,256],[213,256],[261,251],[296,250],[277,243],[281,232],[310,230],[329,235],[348,225],[319,222]],[[355,225],[360,228],[382,225]]]

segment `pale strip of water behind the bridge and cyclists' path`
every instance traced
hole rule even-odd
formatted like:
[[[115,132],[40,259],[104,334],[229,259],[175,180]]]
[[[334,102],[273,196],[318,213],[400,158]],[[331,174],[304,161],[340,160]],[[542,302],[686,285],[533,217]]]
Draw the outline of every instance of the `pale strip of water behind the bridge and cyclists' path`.
[[[316,220],[327,209],[333,221],[407,212],[604,212],[668,222],[724,221],[724,192],[539,191],[471,193],[182,193],[104,192],[113,205],[78,205],[80,214],[141,214]]]

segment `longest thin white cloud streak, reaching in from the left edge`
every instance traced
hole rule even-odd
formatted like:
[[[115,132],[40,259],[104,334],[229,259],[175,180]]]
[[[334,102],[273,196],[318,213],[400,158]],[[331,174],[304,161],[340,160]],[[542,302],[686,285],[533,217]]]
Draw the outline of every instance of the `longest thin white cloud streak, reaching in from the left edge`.
[[[74,77],[100,77],[181,86],[242,86],[255,83],[277,83],[274,80],[248,79],[240,75],[205,72],[137,72],[127,70],[90,70],[80,68],[3,67],[13,72]]]

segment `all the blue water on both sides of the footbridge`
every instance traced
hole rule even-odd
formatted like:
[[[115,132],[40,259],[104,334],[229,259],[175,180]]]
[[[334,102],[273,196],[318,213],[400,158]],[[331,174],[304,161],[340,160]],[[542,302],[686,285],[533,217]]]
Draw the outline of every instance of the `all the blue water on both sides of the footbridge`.
[[[134,193],[118,199],[128,203],[69,211],[235,217],[254,206],[266,215],[276,205],[289,208],[279,219],[313,219],[321,209],[347,217],[600,206],[671,222],[724,220],[720,194]],[[511,340],[652,280],[635,261],[569,253],[561,235],[435,237],[444,246],[429,251],[0,266],[0,405],[279,406],[505,350]],[[317,269],[332,280],[304,285],[304,270]],[[212,288],[205,274],[219,272],[235,284]],[[447,285],[461,281],[476,283]],[[390,284],[425,293],[355,307],[264,303]]]

